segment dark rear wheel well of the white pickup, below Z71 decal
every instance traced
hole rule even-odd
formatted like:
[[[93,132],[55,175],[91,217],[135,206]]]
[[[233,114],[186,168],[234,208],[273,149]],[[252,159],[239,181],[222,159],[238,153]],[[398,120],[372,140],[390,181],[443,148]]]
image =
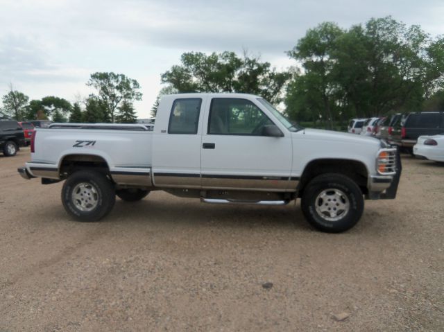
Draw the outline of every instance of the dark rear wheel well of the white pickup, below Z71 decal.
[[[63,157],[60,163],[60,174],[62,177],[68,177],[72,173],[85,168],[94,168],[94,171],[106,175],[110,173],[108,163],[102,157],[96,155],[67,155]]]

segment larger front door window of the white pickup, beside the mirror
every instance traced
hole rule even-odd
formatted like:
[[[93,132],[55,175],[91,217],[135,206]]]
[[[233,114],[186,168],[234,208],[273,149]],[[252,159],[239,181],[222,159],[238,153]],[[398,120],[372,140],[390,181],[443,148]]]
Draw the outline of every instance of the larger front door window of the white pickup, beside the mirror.
[[[270,119],[250,101],[237,98],[213,98],[208,121],[208,134],[257,135]]]

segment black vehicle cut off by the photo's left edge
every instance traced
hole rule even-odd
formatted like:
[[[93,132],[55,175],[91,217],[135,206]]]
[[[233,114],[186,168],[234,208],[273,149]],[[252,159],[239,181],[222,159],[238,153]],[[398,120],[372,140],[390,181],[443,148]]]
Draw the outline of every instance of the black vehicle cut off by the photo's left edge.
[[[0,120],[0,151],[3,155],[6,157],[15,155],[24,143],[23,129],[17,121]]]

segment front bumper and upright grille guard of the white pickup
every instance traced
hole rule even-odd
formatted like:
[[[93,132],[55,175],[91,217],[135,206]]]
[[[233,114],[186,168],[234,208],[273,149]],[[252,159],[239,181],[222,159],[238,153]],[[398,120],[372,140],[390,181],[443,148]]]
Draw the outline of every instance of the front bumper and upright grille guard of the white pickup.
[[[396,149],[395,175],[370,175],[368,178],[368,197],[370,200],[393,200],[396,198],[400,183],[402,164],[399,148]]]

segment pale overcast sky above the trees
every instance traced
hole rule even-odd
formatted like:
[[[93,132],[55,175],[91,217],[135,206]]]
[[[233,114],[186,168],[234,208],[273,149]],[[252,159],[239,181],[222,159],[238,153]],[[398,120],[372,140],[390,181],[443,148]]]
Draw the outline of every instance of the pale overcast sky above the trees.
[[[444,0],[0,0],[0,96],[12,83],[31,98],[87,96],[89,74],[114,71],[142,85],[149,117],[160,74],[186,51],[248,49],[278,69],[322,21],[343,28],[392,15],[444,33]]]

